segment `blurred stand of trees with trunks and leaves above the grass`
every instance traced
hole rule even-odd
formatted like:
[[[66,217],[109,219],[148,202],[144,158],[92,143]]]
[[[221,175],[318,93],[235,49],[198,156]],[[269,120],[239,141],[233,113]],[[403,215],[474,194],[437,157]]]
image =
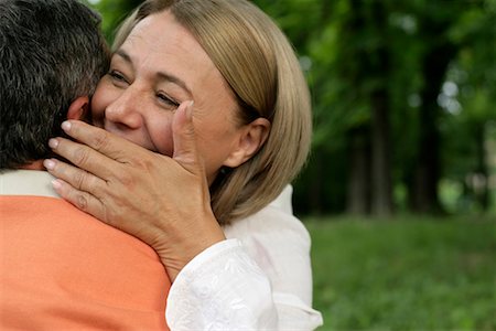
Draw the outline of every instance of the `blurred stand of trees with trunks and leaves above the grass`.
[[[140,2],[97,4],[109,39]],[[296,213],[438,213],[442,179],[488,207],[496,0],[254,2],[293,43],[312,93]]]

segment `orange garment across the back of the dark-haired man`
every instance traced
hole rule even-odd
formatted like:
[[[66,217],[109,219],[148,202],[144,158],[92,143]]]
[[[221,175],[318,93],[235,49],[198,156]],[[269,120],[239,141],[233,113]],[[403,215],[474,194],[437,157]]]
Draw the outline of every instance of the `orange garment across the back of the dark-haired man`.
[[[141,241],[61,199],[0,195],[0,330],[168,330],[170,286]]]

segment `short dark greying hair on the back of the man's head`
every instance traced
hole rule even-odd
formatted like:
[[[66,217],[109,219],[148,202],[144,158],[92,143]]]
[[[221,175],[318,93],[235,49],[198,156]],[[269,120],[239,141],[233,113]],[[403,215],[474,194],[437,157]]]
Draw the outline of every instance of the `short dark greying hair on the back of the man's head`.
[[[50,157],[71,103],[109,64],[100,18],[76,0],[0,0],[0,169]]]

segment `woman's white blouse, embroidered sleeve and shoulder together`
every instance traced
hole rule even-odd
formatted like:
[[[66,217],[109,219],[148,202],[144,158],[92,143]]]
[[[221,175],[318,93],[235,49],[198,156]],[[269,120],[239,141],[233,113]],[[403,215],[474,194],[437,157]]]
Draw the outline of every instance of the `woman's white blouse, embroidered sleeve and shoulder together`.
[[[225,228],[231,239],[196,256],[177,275],[166,320],[177,330],[314,330],[310,236],[276,206]]]

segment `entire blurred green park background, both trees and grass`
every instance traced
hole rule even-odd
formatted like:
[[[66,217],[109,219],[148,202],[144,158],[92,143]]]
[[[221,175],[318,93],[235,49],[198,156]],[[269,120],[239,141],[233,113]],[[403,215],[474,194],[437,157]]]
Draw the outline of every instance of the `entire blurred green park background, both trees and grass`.
[[[93,0],[109,42],[141,1]],[[496,330],[496,0],[256,0],[312,93],[320,330]]]

